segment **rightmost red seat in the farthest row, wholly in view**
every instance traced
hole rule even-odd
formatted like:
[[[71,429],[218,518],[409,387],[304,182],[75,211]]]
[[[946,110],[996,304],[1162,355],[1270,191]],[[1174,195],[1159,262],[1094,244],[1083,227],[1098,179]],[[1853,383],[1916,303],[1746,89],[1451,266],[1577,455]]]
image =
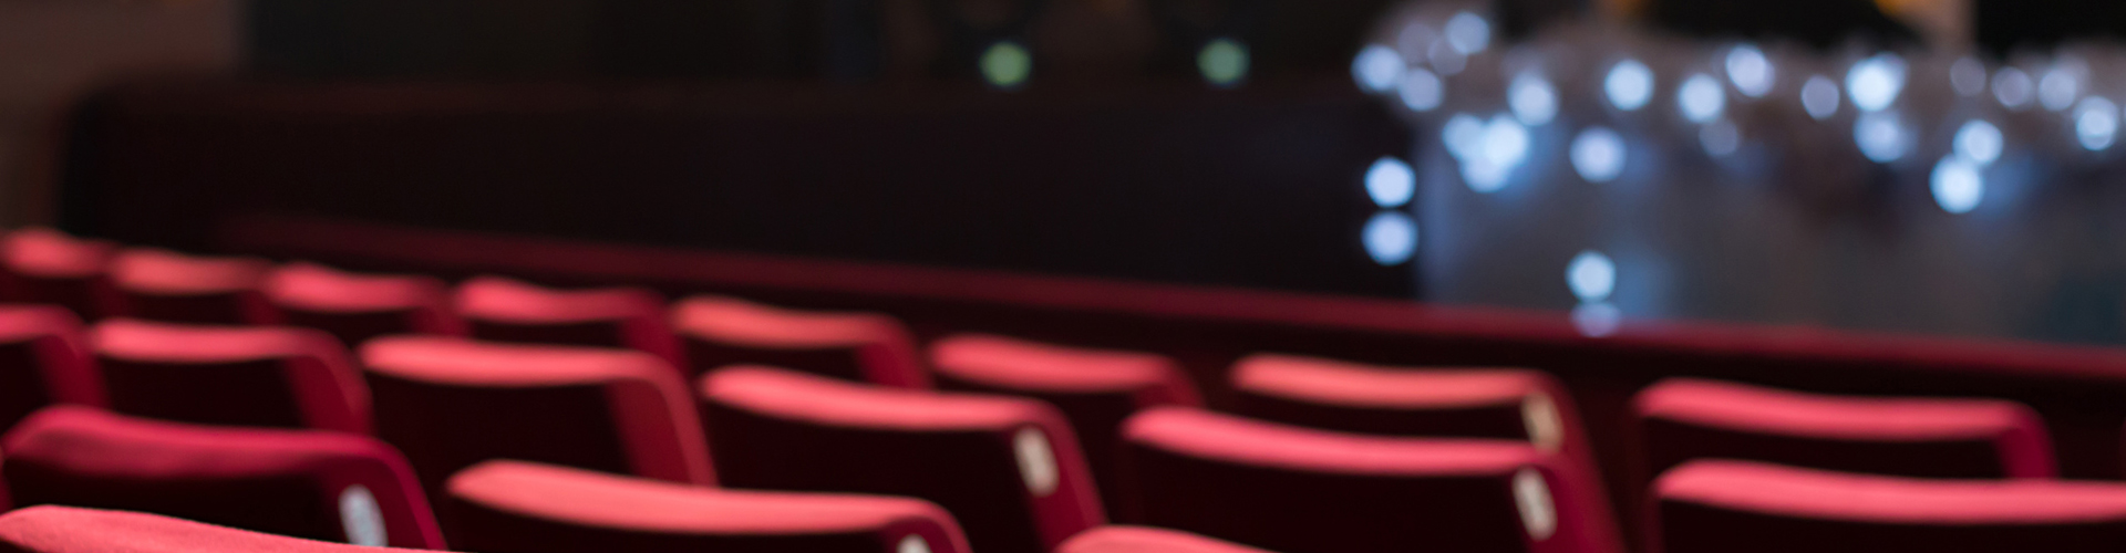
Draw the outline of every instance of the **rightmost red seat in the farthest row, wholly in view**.
[[[1641,391],[1633,413],[1641,483],[1694,457],[1928,479],[2058,474],[2043,421],[2007,400],[1816,396],[1669,379]]]

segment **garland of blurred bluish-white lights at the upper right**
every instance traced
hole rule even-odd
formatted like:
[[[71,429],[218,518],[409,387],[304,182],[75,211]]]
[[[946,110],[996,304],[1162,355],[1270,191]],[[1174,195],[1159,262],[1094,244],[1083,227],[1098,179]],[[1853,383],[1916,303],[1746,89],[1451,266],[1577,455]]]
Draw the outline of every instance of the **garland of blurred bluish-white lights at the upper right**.
[[[1658,153],[1660,145],[1677,143],[1684,138],[1677,136],[1680,132],[1690,132],[1688,138],[1694,138],[1709,157],[1743,153],[1745,132],[1752,134],[1748,136],[1750,149],[1748,157],[1739,160],[1790,155],[1807,164],[1813,160],[1809,155],[1837,155],[1835,149],[1824,149],[1828,145],[1816,145],[1811,138],[1777,140],[1771,136],[1765,140],[1765,136],[1754,136],[1758,132],[1807,132],[1807,125],[1767,123],[1767,113],[1779,117],[1790,113],[1807,117],[1801,121],[1813,119],[1839,128],[1850,123],[1854,145],[1843,155],[1858,153],[1862,160],[1888,164],[1890,170],[1918,170],[1924,164],[1911,157],[1941,155],[1930,166],[1928,191],[1937,206],[1960,215],[1977,211],[1988,198],[1986,179],[1996,166],[2020,168],[2028,166],[2030,160],[2113,160],[2113,155],[2060,155],[2054,147],[2058,138],[2043,138],[2041,132],[2064,132],[2073,145],[2103,153],[2120,143],[2117,134],[2126,125],[2126,115],[2113,100],[2117,96],[2105,96],[2109,81],[2094,79],[2126,68],[2122,55],[2075,55],[2062,49],[2049,62],[2032,64],[2018,57],[2015,64],[1990,66],[1973,55],[1930,57],[1918,53],[1918,62],[1909,62],[1896,51],[1877,51],[1841,64],[1837,70],[1811,74],[1805,70],[1782,72],[1784,57],[1767,55],[1767,49],[1752,43],[1728,43],[1718,55],[1648,51],[1603,55],[1597,51],[1590,57],[1607,62],[1594,68],[1573,68],[1546,66],[1552,60],[1539,53],[1550,51],[1550,47],[1495,45],[1492,21],[1478,11],[1456,11],[1452,4],[1416,6],[1420,9],[1407,11],[1412,21],[1399,26],[1388,45],[1369,45],[1352,60],[1352,77],[1361,89],[1399,100],[1401,108],[1420,115],[1418,121],[1437,123],[1437,143],[1456,164],[1454,172],[1439,174],[1458,174],[1463,185],[1475,194],[1495,194],[1512,185],[1520,168],[1531,164],[1529,157],[1539,136],[1546,151],[1550,151],[1548,140],[1556,140],[1550,136],[1569,136],[1565,157],[1586,183],[1614,183],[1626,174],[1658,174],[1652,170],[1626,172],[1635,157],[1633,151],[1641,145],[1654,145],[1656,153],[1643,157],[1660,160],[1665,157]],[[1495,49],[1503,55],[1488,53]],[[1688,57],[1711,64],[1673,66],[1675,60]],[[1526,64],[1529,60],[1537,64]],[[1663,64],[1671,66],[1656,72],[1641,60],[1669,60]],[[2111,66],[2094,70],[2086,60]],[[1471,70],[1471,66],[1482,70]],[[1505,83],[1503,87],[1467,83],[1475,77],[1505,79]],[[1577,85],[1594,89],[1560,89]],[[1937,91],[1943,85],[1947,91]],[[1501,89],[1503,98],[1484,98]],[[1597,96],[1599,104],[1607,108],[1567,117],[1563,113],[1567,106],[1580,106],[1569,98],[1586,98],[1580,94]],[[1673,98],[1663,94],[1673,94]],[[1663,111],[1646,111],[1656,96],[1663,102],[1673,102],[1675,111],[1665,111],[1669,104],[1663,104]],[[1918,96],[1918,100],[1907,100],[1907,96]],[[1950,102],[1937,100],[1943,96]],[[1973,102],[1988,106],[1973,108]],[[1845,111],[1847,104],[1850,111]],[[2032,111],[2039,106],[2043,111]],[[1945,113],[1954,113],[1956,119],[1943,121]],[[1580,128],[1552,130],[1560,121]],[[1954,132],[1945,132],[1950,125]],[[1947,140],[1937,136],[1947,136]],[[1801,151],[1794,151],[1796,147]],[[2007,155],[2018,162],[1998,164]],[[1726,166],[1745,168],[1745,162]],[[1376,262],[1393,266],[1414,255],[1418,225],[1405,206],[1416,196],[1416,170],[1397,157],[1382,157],[1367,170],[1365,189],[1382,208],[1363,232],[1365,249]],[[1616,330],[1622,311],[1609,302],[1614,283],[1616,264],[1607,255],[1584,251],[1571,259],[1567,285],[1580,300],[1573,321],[1580,323],[1582,332],[1601,336]]]

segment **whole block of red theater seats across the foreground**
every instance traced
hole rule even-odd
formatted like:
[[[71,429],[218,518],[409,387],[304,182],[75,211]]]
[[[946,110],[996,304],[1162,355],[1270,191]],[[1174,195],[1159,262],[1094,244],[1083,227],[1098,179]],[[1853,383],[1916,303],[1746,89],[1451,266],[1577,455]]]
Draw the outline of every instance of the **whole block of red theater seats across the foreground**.
[[[108,262],[68,285],[21,262],[68,247],[104,249]],[[138,257],[153,262],[125,262]],[[1620,551],[1571,398],[1531,370],[1256,355],[1233,368],[1246,415],[1235,417],[1201,410],[1161,355],[955,336],[925,362],[884,315],[729,298],[665,311],[646,289],[504,279],[451,291],[429,276],[121,251],[51,232],[9,236],[4,259],[0,291],[15,300],[115,298],[77,306],[183,321],[106,319],[77,338],[66,313],[11,308],[0,330],[26,321],[15,374],[43,374],[34,387],[62,402],[189,421],[40,413],[0,445],[17,504],[366,544],[440,549],[449,534],[461,549],[527,553],[614,540],[901,553],[1050,551],[1091,534],[1201,542],[1095,530],[1108,513],[1288,553]],[[230,279],[232,266],[253,276]],[[87,294],[38,296],[53,289]],[[347,355],[308,330],[198,325],[232,323],[223,315],[310,323],[361,349]],[[442,336],[391,336],[421,332]],[[963,391],[923,389],[933,381]],[[1637,408],[1633,470],[1663,474],[1652,500],[1665,523],[1648,536],[1667,551],[1779,538],[1824,549],[1811,542],[1856,523],[1865,536],[1847,542],[1945,536],[1928,530],[1941,521],[2073,547],[2117,536],[2122,519],[2105,510],[2126,493],[2115,485],[1998,481],[2056,472],[2037,417],[2011,402],[1671,381]],[[353,436],[370,432],[383,442]],[[1790,489],[1816,502],[1779,502]],[[425,519],[427,496],[442,498],[440,525]]]

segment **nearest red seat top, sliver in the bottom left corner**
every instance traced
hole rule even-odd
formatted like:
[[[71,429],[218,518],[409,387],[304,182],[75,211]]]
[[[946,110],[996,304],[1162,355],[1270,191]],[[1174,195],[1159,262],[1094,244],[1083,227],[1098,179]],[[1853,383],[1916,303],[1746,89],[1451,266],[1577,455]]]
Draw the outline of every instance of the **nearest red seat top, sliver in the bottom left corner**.
[[[274,536],[185,519],[32,506],[0,515],[0,551],[9,553],[393,553],[395,547],[355,547]]]

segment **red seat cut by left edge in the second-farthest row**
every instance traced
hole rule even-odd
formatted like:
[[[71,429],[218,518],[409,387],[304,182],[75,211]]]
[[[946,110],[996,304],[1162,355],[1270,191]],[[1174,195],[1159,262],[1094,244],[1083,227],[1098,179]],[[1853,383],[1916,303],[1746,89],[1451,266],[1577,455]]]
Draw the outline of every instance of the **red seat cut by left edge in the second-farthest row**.
[[[81,319],[62,306],[0,304],[0,428],[47,404],[108,404]]]

